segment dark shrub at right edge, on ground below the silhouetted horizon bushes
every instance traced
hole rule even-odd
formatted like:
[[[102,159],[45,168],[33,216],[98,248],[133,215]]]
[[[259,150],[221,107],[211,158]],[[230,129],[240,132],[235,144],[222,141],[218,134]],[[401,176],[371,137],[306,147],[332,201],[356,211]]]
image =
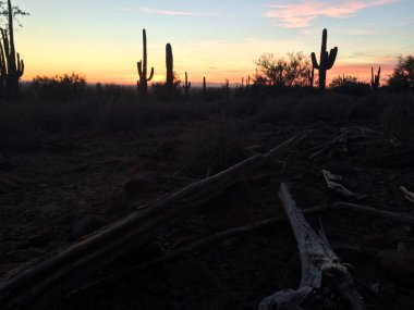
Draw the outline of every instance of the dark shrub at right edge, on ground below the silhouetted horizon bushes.
[[[386,132],[402,140],[414,141],[414,107],[409,95],[389,95],[381,97],[381,115]]]

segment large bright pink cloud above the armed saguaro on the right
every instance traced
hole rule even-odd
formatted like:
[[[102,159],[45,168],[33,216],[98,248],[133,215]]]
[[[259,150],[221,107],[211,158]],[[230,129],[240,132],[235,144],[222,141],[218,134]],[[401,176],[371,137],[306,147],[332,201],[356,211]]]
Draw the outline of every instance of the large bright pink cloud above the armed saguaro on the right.
[[[287,28],[307,27],[319,16],[344,18],[354,15],[356,12],[379,5],[398,2],[399,0],[341,0],[341,1],[306,1],[300,3],[269,4],[270,10],[266,13],[269,18],[278,20],[278,25]]]

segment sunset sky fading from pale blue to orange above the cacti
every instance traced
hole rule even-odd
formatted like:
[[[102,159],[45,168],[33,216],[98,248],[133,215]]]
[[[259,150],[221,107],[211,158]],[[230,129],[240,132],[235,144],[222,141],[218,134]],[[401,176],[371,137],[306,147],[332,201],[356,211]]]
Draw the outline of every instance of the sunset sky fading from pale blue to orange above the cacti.
[[[414,54],[414,0],[14,0],[29,12],[15,25],[23,80],[64,73],[88,83],[136,84],[147,33],[148,66],[165,80],[166,44],[174,71],[193,84],[241,83],[264,53],[316,52],[328,29],[338,47],[328,79],[368,82],[370,67],[391,74],[398,55]],[[154,82],[153,80],[153,82]]]

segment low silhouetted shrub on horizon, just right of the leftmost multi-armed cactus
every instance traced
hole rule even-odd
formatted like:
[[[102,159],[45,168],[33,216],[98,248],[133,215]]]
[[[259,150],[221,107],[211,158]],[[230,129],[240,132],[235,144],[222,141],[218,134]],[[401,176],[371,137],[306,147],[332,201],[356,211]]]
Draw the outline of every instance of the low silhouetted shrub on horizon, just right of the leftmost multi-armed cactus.
[[[86,79],[75,73],[53,77],[36,76],[32,82],[32,92],[40,100],[69,101],[85,95]]]

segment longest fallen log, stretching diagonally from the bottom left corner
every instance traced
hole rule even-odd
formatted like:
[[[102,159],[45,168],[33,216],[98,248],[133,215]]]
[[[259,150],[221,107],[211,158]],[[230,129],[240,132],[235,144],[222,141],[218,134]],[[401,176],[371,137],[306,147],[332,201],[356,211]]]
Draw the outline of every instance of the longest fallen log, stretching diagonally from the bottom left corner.
[[[65,294],[81,286],[97,271],[154,239],[172,221],[182,219],[231,185],[247,178],[258,165],[271,160],[277,151],[308,133],[302,132],[266,154],[251,157],[155,201],[144,211],[135,211],[63,251],[29,262],[17,275],[0,284],[1,309],[54,309]]]

